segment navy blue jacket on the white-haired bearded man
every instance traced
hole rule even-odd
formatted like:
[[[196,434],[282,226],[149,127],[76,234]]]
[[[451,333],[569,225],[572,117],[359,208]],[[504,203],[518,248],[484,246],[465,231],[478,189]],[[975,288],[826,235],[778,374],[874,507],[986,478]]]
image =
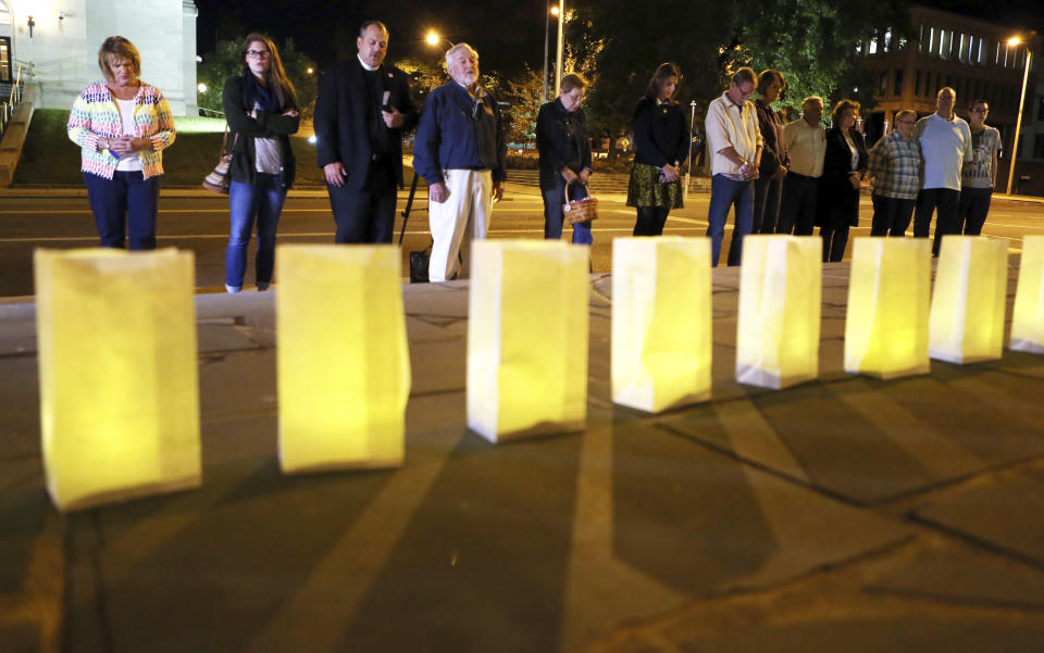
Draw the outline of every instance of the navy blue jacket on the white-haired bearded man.
[[[493,171],[494,181],[508,178],[508,143],[496,99],[476,101],[450,80],[427,96],[413,143],[413,169],[428,184],[445,181],[444,169]]]

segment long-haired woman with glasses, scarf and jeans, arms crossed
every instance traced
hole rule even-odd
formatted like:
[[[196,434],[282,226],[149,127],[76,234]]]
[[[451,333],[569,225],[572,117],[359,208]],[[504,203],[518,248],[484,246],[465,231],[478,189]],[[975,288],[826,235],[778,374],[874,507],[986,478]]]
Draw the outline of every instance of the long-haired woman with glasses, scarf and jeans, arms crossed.
[[[247,246],[258,225],[254,275],[266,290],[275,266],[275,228],[286,191],[294,183],[290,135],[300,126],[297,95],[272,39],[251,34],[243,47],[241,75],[225,80],[222,102],[228,121],[231,229],[225,253],[225,290],[239,292],[247,271]]]

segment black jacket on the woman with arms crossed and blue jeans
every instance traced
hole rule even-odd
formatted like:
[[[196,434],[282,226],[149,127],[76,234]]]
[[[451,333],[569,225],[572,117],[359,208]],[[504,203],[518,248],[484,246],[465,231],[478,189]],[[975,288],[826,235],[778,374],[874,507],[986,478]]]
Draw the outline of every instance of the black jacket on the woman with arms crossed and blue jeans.
[[[294,184],[296,162],[294,149],[290,147],[290,134],[296,134],[301,124],[300,116],[288,116],[279,113],[261,111],[258,117],[250,117],[250,108],[243,97],[243,77],[234,75],[225,79],[225,89],[221,97],[225,108],[225,120],[228,122],[228,141],[235,139],[232,148],[232,166],[228,173],[233,181],[253,184],[257,178],[254,163],[254,138],[277,138],[283,186],[289,188]]]

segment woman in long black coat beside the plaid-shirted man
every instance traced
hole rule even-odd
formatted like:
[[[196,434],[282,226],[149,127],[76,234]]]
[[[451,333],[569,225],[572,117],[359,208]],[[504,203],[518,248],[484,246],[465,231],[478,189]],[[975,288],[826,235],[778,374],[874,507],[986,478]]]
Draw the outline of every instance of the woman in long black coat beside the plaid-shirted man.
[[[823,263],[845,255],[848,228],[859,224],[859,186],[867,169],[867,148],[861,129],[853,129],[859,102],[841,100],[831,113],[826,130],[823,176],[819,179],[816,223],[823,239]]]

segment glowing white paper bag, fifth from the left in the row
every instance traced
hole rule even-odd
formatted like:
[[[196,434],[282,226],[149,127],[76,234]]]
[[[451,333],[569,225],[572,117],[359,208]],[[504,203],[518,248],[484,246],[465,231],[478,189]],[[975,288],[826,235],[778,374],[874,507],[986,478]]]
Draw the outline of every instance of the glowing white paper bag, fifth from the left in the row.
[[[819,376],[823,241],[747,236],[739,271],[736,380],[786,388]]]

